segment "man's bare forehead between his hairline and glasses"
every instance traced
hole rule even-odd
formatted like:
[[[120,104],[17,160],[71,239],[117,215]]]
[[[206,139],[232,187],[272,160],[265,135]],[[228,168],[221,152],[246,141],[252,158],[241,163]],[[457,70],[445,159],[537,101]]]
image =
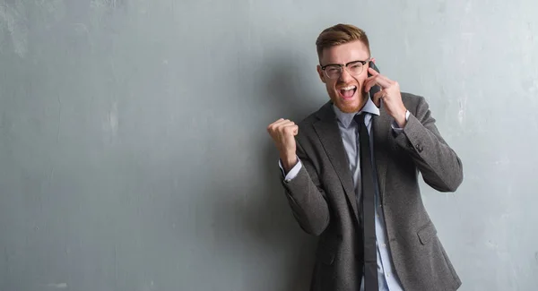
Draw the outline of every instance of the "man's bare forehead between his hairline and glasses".
[[[356,40],[334,47],[326,47],[321,56],[321,64],[347,64],[352,61],[366,61],[368,47]]]

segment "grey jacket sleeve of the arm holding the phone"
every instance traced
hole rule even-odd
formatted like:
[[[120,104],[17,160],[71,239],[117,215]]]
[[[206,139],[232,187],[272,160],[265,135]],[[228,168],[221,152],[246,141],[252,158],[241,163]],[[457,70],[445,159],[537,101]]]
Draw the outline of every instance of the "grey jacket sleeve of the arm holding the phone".
[[[462,162],[438,132],[426,100],[417,98],[414,114],[395,141],[410,153],[426,184],[439,192],[455,192],[464,179]]]

